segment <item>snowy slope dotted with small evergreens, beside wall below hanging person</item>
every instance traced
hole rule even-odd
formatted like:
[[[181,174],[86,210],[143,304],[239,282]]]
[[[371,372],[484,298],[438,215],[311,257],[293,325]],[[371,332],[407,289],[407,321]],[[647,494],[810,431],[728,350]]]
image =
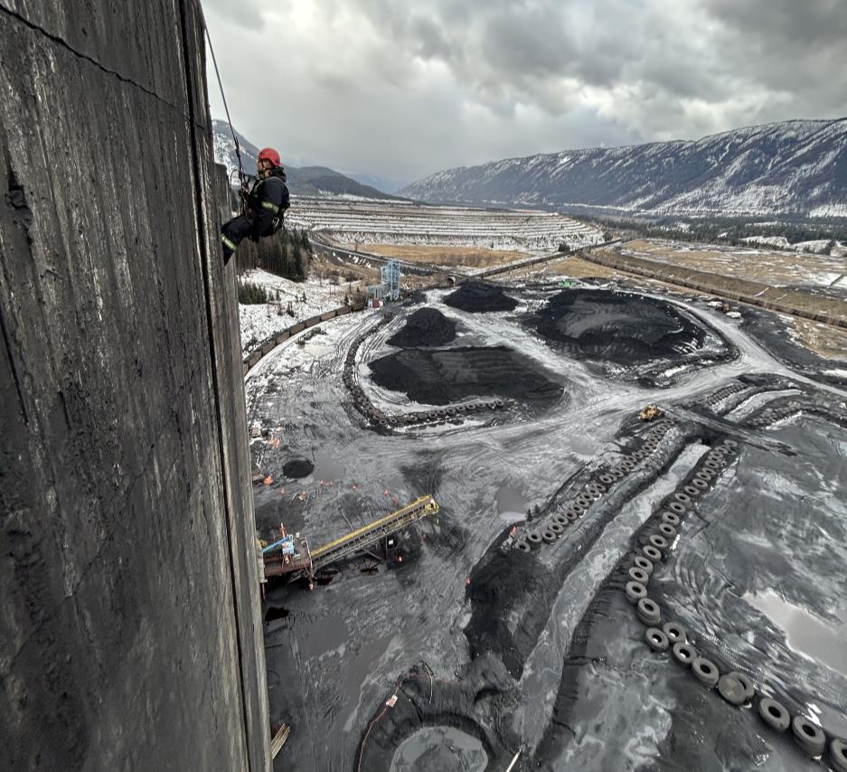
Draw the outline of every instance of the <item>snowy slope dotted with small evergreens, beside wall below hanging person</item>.
[[[265,287],[274,298],[270,303],[239,304],[241,353],[247,354],[261,341],[304,319],[323,314],[344,304],[346,285],[309,277],[290,281],[263,270],[245,271],[239,281]],[[291,313],[288,313],[290,309]]]

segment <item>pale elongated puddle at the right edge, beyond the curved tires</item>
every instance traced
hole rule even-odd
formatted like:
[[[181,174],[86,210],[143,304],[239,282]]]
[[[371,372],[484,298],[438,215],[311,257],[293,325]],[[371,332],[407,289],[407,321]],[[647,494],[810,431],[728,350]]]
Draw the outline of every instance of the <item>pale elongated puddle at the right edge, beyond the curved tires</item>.
[[[785,631],[786,643],[792,651],[847,675],[847,645],[844,643],[847,625],[829,626],[772,589],[762,595],[746,593],[744,600]]]

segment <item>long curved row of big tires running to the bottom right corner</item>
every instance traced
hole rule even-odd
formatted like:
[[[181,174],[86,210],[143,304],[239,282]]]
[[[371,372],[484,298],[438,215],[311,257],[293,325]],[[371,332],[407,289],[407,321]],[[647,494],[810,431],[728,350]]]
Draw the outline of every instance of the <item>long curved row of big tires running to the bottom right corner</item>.
[[[747,673],[732,671],[720,673],[718,665],[705,657],[689,640],[682,624],[673,620],[663,621],[659,604],[648,595],[650,579],[654,570],[668,560],[673,542],[685,516],[690,513],[697,496],[705,493],[720,471],[729,464],[738,450],[738,443],[727,439],[704,457],[689,483],[671,494],[666,506],[660,508],[654,519],[654,527],[647,529],[644,542],[638,551],[625,561],[626,599],[635,607],[635,616],[646,627],[645,643],[657,654],[670,652],[673,662],[689,670],[694,679],[706,689],[717,689],[720,696],[736,707],[758,702],[758,715],[768,727],[785,732],[789,727],[797,746],[810,758],[823,755],[827,737],[814,722],[802,715],[792,717],[785,705],[767,697],[756,689]],[[700,480],[704,485],[692,485]],[[847,742],[829,739],[829,755],[837,772],[847,772]]]

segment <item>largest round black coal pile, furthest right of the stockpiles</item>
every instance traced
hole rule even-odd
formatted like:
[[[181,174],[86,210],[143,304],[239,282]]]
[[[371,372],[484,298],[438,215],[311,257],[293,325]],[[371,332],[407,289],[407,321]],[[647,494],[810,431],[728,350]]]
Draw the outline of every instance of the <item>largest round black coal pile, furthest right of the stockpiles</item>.
[[[599,289],[565,290],[535,315],[539,334],[575,356],[635,365],[691,354],[706,330],[651,297]]]

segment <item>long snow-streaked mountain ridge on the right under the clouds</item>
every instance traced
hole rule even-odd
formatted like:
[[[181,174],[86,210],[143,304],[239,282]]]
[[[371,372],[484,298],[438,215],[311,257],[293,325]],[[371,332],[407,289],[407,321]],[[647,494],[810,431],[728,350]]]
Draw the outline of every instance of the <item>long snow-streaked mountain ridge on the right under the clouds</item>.
[[[847,217],[847,118],[510,158],[438,172],[398,194],[578,213]]]

